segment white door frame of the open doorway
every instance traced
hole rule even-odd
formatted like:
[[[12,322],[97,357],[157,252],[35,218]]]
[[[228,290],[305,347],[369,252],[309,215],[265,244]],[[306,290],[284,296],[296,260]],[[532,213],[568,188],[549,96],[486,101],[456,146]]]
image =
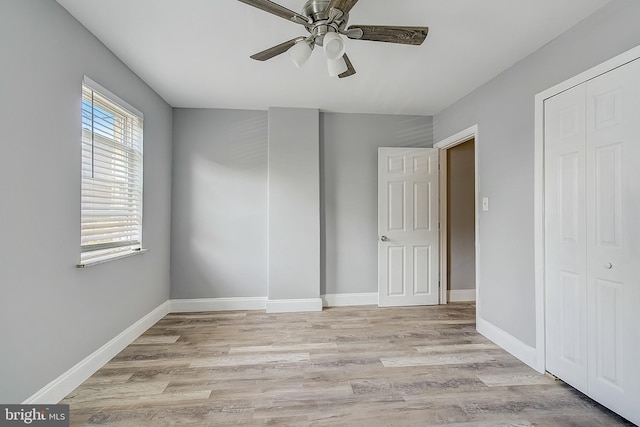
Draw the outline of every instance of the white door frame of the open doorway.
[[[447,304],[447,150],[474,139],[474,195],[475,195],[475,251],[476,251],[476,319],[480,312],[480,234],[479,234],[479,197],[478,197],[478,125],[473,125],[463,131],[433,145],[440,150],[440,304]]]

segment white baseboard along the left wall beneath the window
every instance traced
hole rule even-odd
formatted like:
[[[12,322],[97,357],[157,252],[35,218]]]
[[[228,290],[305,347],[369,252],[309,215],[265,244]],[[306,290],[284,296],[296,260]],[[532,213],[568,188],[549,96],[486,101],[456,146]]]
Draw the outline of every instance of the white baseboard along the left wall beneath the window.
[[[26,405],[58,403],[147,329],[166,316],[169,313],[169,306],[169,301],[159,305],[151,313],[129,326],[22,403]]]

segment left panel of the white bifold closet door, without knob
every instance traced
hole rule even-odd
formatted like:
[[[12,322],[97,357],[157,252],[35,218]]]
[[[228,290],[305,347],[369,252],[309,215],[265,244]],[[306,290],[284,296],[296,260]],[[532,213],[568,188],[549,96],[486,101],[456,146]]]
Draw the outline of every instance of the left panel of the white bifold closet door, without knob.
[[[585,99],[545,102],[545,336],[547,370],[586,393]]]

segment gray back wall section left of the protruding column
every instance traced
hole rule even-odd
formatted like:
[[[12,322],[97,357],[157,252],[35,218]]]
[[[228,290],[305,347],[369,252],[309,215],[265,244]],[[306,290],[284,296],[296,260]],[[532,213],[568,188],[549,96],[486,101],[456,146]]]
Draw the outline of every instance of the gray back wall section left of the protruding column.
[[[171,298],[267,296],[267,112],[174,110]]]

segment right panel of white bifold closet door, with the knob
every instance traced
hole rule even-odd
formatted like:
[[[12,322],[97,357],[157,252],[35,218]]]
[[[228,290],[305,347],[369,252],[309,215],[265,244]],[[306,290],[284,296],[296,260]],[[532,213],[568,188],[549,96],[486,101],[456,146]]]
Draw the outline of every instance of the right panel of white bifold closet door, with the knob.
[[[589,395],[640,423],[640,60],[586,83]]]

